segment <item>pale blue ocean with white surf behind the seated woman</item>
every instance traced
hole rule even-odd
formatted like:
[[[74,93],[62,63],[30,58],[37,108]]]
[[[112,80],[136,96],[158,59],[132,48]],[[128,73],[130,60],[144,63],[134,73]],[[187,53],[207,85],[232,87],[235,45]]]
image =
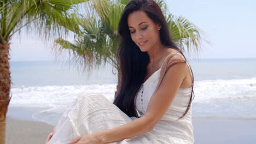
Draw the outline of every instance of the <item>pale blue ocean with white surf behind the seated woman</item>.
[[[194,73],[193,117],[256,119],[256,59],[190,60]],[[111,65],[90,75],[64,62],[10,62],[7,117],[56,124],[83,91],[113,101],[117,71]]]

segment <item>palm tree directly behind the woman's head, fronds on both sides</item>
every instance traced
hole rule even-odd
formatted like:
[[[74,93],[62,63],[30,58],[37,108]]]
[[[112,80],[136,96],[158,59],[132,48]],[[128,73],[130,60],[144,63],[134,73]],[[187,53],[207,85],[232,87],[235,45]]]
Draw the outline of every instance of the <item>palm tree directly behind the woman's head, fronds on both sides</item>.
[[[170,14],[164,1],[155,1],[166,17],[173,41],[182,51],[197,52],[202,41],[200,29],[184,17]],[[86,3],[84,9],[87,13],[79,19],[82,33],[77,33],[78,37],[74,42],[56,39],[55,53],[60,55],[63,50],[70,50],[69,58],[79,67],[82,65],[84,70],[90,71],[92,65],[99,66],[102,63],[109,63],[118,70],[118,23],[128,2],[129,0],[91,0]],[[117,89],[119,81],[120,74]]]

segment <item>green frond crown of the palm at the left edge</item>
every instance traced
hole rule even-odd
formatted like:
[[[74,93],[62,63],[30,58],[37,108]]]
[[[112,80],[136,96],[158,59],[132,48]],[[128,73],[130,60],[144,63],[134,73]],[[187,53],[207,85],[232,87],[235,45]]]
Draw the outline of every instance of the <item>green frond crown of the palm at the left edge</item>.
[[[79,33],[72,14],[79,3],[88,0],[16,0],[0,1],[1,36],[0,40],[9,40],[22,27],[37,30],[46,38],[66,35],[67,29]]]

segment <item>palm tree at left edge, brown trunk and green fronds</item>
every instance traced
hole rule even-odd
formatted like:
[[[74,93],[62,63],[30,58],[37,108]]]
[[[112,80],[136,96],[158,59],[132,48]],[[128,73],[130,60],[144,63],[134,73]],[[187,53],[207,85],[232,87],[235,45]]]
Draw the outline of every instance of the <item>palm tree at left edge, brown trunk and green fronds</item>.
[[[0,143],[5,143],[5,116],[11,98],[11,37],[23,27],[27,31],[33,27],[45,39],[66,35],[65,27],[79,31],[72,13],[82,2],[85,0],[0,0]]]

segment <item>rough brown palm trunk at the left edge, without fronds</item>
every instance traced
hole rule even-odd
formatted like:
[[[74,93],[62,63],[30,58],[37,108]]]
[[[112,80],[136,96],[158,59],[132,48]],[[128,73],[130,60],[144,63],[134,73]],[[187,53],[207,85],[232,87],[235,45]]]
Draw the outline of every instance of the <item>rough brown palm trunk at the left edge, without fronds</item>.
[[[5,143],[5,116],[10,102],[9,43],[0,44],[0,143]]]

